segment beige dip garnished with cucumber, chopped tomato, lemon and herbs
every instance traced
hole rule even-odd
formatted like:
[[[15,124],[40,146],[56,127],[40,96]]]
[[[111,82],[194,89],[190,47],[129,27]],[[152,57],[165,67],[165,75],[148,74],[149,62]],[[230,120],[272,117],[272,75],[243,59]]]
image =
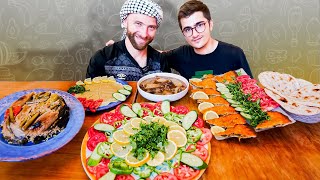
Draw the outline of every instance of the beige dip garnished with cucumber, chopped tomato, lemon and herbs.
[[[99,107],[125,101],[131,90],[131,86],[117,82],[113,76],[99,76],[76,82],[68,92],[77,97],[86,110],[95,112]]]

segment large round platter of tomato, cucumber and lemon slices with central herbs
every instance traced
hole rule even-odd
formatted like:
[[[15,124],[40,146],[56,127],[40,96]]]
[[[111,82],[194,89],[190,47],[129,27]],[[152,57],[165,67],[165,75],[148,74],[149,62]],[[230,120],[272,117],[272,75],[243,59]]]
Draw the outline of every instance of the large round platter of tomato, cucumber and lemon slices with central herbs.
[[[90,179],[198,179],[209,163],[211,138],[186,106],[123,104],[90,127],[81,161]]]

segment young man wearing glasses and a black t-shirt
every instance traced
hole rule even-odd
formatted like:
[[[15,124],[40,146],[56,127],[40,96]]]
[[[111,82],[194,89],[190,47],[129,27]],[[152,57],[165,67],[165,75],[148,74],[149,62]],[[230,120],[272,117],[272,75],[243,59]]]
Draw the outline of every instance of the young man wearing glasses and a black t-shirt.
[[[211,36],[213,21],[203,2],[190,0],[184,3],[179,9],[178,21],[188,45],[162,54],[170,68],[187,79],[197,71],[210,70],[218,75],[240,68],[252,77],[242,49]]]

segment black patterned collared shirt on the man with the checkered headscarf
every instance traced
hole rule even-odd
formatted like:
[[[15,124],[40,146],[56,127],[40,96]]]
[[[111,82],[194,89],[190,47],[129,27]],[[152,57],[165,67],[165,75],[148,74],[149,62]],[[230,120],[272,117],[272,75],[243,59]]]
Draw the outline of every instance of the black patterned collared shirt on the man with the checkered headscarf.
[[[151,46],[147,48],[147,65],[141,68],[128,52],[125,40],[106,46],[91,57],[86,77],[107,75],[126,81],[138,81],[144,75],[168,71],[166,63],[161,63],[160,53]]]

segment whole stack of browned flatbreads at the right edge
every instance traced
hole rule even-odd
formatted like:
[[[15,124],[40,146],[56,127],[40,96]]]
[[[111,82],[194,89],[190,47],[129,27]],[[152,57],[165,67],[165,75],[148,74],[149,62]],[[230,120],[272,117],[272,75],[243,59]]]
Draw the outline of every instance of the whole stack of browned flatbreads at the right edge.
[[[260,73],[258,79],[265,92],[288,112],[297,115],[320,113],[320,84],[271,71]]]

